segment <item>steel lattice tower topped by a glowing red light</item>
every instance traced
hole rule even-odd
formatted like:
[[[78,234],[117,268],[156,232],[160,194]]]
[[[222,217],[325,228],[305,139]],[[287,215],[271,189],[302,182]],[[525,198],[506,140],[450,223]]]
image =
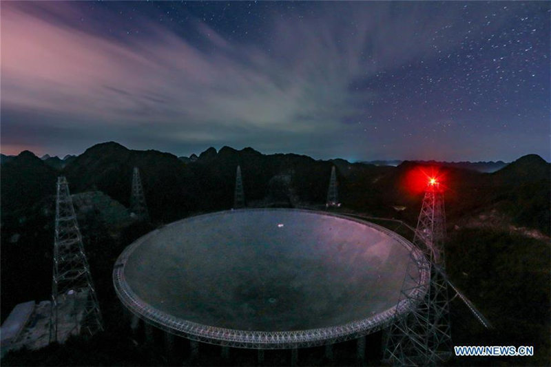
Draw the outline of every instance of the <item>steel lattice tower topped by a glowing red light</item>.
[[[445,273],[444,238],[446,213],[444,193],[435,179],[425,191],[413,249],[399,302],[415,309],[396,317],[388,331],[384,360],[400,366],[433,366],[451,356],[448,281]],[[424,254],[419,257],[419,250]],[[430,271],[428,285],[419,280],[419,271]]]

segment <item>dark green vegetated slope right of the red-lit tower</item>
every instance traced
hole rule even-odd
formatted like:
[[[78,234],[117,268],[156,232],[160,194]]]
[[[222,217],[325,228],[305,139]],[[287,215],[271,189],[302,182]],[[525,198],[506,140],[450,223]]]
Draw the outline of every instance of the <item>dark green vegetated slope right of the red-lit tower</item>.
[[[534,346],[534,357],[464,357],[457,364],[547,366],[551,360],[549,242],[488,229],[461,229],[448,237],[448,274],[494,326],[484,331],[468,311],[457,311],[461,306],[456,302],[454,344]]]

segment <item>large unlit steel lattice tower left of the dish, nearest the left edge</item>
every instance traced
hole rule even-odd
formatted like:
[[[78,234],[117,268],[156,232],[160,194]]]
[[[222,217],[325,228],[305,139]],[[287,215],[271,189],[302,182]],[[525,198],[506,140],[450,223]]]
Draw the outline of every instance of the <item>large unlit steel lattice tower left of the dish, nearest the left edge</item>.
[[[60,313],[60,309],[63,309]],[[103,330],[90,266],[65,177],[57,178],[50,342]],[[69,312],[67,312],[69,311]],[[60,328],[61,326],[61,328]]]

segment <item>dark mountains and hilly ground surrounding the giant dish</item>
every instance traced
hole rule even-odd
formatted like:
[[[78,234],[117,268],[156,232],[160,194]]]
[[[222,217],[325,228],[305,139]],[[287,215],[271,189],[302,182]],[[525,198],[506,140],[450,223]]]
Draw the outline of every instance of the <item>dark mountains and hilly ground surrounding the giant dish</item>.
[[[314,160],[298,154],[267,155],[250,147],[210,147],[198,156],[177,157],[127,149],[113,142],[94,145],[63,160],[39,158],[30,151],[2,156],[2,319],[19,302],[50,297],[55,183],[63,175],[70,185],[107,325],[97,342],[98,353],[104,361],[118,361],[116,364],[158,364],[153,359],[136,359],[132,341],[121,339],[127,331],[118,326],[121,307],[112,289],[114,262],[129,243],[156,227],[197,213],[231,208],[238,165],[249,207],[325,209],[334,166],[342,203],[338,210],[397,218],[413,227],[423,197],[422,191],[411,185],[413,174],[437,171],[446,189],[446,271],[495,325],[495,331],[481,331],[468,311],[461,311],[464,306],[455,306],[450,315],[455,343],[534,345],[540,351],[539,359],[528,363],[549,360],[550,348],[545,343],[551,319],[551,165],[534,154],[492,173],[432,161],[403,161],[393,167]],[[134,167],[140,170],[151,223],[132,220],[127,210]],[[422,179],[426,185],[426,177]],[[120,342],[117,348],[109,342],[114,340]],[[43,364],[44,358],[55,356],[49,359],[55,361],[53,365],[72,364],[63,357],[69,349],[56,348],[60,349],[33,352],[32,358]],[[75,358],[94,364],[90,361],[95,360],[96,348],[88,344],[82,348],[94,353]],[[22,351],[6,365],[32,364],[25,353],[30,352]],[[116,359],[121,353],[124,359]],[[467,363],[496,361],[469,359]],[[499,359],[499,363],[526,362]]]

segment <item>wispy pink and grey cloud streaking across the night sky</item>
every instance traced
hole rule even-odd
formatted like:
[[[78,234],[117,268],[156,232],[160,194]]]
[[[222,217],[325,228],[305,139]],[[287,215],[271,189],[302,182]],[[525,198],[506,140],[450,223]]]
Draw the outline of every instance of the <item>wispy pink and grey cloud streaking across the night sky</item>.
[[[455,5],[435,13],[424,3],[323,3],[302,20],[276,14],[260,43],[229,41],[197,20],[198,41],[150,19],[137,20],[143,36],[121,39],[69,25],[79,14],[72,3],[41,6],[48,11],[3,3],[3,107],[60,116],[37,125],[94,121],[83,129],[109,140],[132,132],[190,144],[323,142],[376,97],[351,83],[434,57],[435,45],[449,50],[467,29]]]

